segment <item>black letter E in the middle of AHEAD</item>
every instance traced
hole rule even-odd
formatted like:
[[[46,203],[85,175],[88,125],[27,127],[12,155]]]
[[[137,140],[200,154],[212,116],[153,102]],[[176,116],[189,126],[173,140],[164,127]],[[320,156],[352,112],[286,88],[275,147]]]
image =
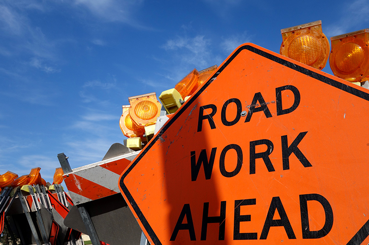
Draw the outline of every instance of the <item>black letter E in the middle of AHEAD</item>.
[[[244,199],[235,201],[235,220],[233,224],[233,240],[257,240],[257,233],[240,233],[240,222],[251,221],[251,215],[240,215],[241,206],[255,205],[256,199]]]

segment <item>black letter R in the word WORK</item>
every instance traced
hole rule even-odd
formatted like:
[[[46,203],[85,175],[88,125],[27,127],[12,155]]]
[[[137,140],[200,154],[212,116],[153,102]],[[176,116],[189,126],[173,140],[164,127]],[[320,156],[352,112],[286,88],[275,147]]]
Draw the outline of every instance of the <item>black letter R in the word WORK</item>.
[[[255,146],[266,145],[268,149],[263,153],[255,153]],[[274,145],[273,142],[267,139],[255,140],[250,142],[250,174],[255,174],[255,159],[263,158],[265,166],[269,172],[276,171],[273,164],[269,158],[269,155],[273,152]]]

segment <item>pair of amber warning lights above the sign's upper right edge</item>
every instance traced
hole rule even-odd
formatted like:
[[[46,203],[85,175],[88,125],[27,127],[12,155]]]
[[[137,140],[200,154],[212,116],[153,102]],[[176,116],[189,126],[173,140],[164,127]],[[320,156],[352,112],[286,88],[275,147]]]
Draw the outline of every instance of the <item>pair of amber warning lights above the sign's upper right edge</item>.
[[[369,75],[369,29],[331,37],[322,32],[322,22],[315,21],[281,30],[280,54],[316,69],[328,61],[336,77],[361,85]]]

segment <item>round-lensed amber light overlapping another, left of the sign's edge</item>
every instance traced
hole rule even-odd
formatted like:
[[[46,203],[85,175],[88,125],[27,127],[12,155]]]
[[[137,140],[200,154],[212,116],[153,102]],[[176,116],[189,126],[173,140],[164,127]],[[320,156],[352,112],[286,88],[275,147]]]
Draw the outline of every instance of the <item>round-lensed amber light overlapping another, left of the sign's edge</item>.
[[[160,115],[161,104],[156,98],[156,93],[147,93],[128,97],[129,116],[139,127],[145,127],[156,123]]]

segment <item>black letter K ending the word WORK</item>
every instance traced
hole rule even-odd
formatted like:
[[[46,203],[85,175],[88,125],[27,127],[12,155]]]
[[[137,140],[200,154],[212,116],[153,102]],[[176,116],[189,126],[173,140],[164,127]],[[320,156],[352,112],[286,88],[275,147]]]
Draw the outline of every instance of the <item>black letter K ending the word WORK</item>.
[[[312,167],[311,163],[307,160],[305,155],[300,151],[297,145],[302,141],[307,132],[302,132],[297,135],[296,139],[292,142],[290,146],[288,146],[287,135],[281,136],[282,141],[282,162],[283,162],[283,170],[290,169],[290,160],[289,157],[292,153],[294,153],[297,159],[304,165],[304,167]]]

